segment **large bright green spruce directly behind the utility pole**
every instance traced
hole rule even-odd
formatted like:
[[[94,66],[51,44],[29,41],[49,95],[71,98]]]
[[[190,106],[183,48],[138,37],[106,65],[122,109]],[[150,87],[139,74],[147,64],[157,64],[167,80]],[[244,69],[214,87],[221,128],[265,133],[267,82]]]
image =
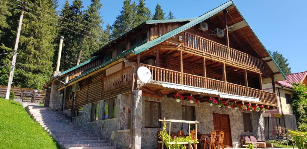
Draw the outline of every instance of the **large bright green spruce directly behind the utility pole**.
[[[33,1],[33,5],[56,13],[52,2]],[[50,22],[57,22],[56,20],[43,15],[46,14],[46,12],[35,6],[29,5],[27,7],[38,11],[29,12],[40,18],[27,13],[24,14],[23,18],[16,60],[17,66],[15,67],[12,83],[13,86],[17,87],[42,88],[42,84],[48,81],[49,76],[52,74],[52,57],[56,47],[53,43],[58,34],[56,25]],[[19,20],[20,17],[19,11],[12,14],[13,15],[10,18],[7,18],[7,22],[12,22],[12,24],[10,24],[10,31],[6,32],[5,41],[2,42],[3,45],[1,46],[2,50],[8,52],[13,51],[18,27],[18,21],[16,20]],[[52,17],[55,18],[56,16],[53,15]],[[10,62],[11,58],[12,55],[6,55],[6,57],[2,59],[2,62]],[[4,83],[3,85],[6,85],[8,74],[5,74],[4,77],[0,79],[0,82]]]

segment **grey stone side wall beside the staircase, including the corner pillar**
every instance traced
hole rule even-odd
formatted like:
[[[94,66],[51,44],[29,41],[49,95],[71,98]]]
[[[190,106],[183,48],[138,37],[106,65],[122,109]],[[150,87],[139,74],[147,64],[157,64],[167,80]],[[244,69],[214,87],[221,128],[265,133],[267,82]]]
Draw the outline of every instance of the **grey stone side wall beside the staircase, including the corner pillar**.
[[[135,101],[134,109],[142,107],[142,92],[134,91]],[[129,130],[127,130],[127,116],[128,108],[130,108],[130,95],[118,95],[116,99],[116,118],[102,120],[104,115],[104,100],[99,101],[99,117],[97,121],[90,122],[91,117],[91,104],[85,104],[83,106],[83,116],[78,116],[72,118],[75,124],[78,124],[87,130],[90,130],[92,133],[98,135],[101,139],[106,140],[109,143],[112,143],[113,146],[118,147],[119,149],[125,149],[129,145]],[[140,105],[141,104],[141,105]],[[64,114],[70,114],[70,109],[65,110]],[[141,127],[141,114],[142,110],[134,110],[134,113],[131,113],[133,118],[139,119],[139,123],[134,123],[133,128]],[[141,130],[134,129],[133,132],[137,135],[139,139],[133,140],[133,147],[141,148]],[[139,146],[139,147],[138,147]]]

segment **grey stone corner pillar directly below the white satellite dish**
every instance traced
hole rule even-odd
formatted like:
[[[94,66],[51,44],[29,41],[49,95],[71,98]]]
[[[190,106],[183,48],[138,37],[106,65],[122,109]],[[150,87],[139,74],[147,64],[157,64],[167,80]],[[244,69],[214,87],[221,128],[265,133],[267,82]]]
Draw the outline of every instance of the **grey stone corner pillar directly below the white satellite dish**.
[[[141,149],[142,143],[142,90],[133,92],[133,110],[132,110],[132,149]]]

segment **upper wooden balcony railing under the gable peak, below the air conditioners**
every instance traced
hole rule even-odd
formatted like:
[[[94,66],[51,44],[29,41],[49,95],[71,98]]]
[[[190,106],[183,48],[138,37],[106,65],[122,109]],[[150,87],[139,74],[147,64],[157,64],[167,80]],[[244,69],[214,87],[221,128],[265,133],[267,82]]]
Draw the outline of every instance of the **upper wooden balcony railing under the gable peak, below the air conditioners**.
[[[235,62],[251,68],[264,70],[263,60],[257,57],[253,57],[241,51],[229,48],[225,45],[219,44],[214,41],[210,41],[206,38],[199,37],[185,32],[185,47],[195,49],[200,52],[221,57],[225,60]]]

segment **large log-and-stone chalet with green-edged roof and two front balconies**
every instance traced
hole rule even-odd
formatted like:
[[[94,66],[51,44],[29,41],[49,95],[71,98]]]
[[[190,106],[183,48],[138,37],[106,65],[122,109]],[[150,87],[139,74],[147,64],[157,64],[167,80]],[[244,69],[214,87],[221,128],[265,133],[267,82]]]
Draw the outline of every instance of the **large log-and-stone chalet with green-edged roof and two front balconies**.
[[[146,21],[92,56],[54,73],[44,85],[51,95],[45,106],[119,148],[128,147],[129,129],[133,148],[157,148],[163,118],[197,120],[204,134],[223,130],[230,147],[240,147],[244,134],[264,140],[262,113],[210,106],[208,100],[277,109],[276,93],[263,91],[262,84],[286,78],[233,1],[197,18]],[[147,67],[152,81],[139,86],[131,65],[135,72]],[[200,102],[177,103],[177,92]],[[173,132],[182,128],[172,126]]]

